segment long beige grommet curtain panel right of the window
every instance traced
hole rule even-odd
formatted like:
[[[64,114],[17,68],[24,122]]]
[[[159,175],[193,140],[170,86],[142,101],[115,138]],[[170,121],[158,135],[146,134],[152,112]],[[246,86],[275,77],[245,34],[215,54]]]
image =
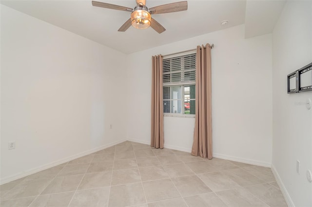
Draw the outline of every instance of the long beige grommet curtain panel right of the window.
[[[213,158],[211,119],[211,47],[196,49],[195,129],[192,154]]]

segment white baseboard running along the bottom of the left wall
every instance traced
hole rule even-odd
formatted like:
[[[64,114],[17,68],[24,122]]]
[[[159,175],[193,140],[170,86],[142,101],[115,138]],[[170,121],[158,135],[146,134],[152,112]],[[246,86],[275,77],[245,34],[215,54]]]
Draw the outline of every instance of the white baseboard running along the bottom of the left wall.
[[[42,165],[42,166],[39,166],[39,167],[36,167],[36,168],[33,168],[33,169],[28,169],[28,170],[16,173],[14,175],[6,176],[6,177],[4,177],[4,178],[2,178],[0,180],[0,185],[8,183],[8,182],[11,182],[11,181],[14,181],[14,180],[17,180],[17,179],[20,179],[22,177],[25,177],[25,176],[28,176],[28,175],[31,175],[31,174],[34,174],[34,173],[39,172],[39,171],[44,170],[44,169],[48,169],[48,168],[52,168],[52,167],[58,166],[58,165],[60,165],[62,163],[65,163],[65,162],[77,159],[77,158],[85,156],[87,154],[91,154],[93,152],[100,151],[100,150],[112,147],[112,146],[117,145],[117,144],[119,144],[121,142],[124,142],[124,141],[126,141],[126,139],[122,139],[122,140],[119,140],[119,141],[116,141],[116,142],[113,142],[113,143],[110,143],[110,144],[102,145],[102,146],[100,146],[98,148],[94,148],[92,150],[84,151],[84,152],[81,152],[81,153],[78,153],[78,154],[75,154],[75,155],[72,155],[72,156],[69,156],[69,157],[65,157],[65,158],[59,159],[57,161],[54,161],[54,162],[51,162],[51,163],[48,163],[48,164],[45,164],[45,165]]]

